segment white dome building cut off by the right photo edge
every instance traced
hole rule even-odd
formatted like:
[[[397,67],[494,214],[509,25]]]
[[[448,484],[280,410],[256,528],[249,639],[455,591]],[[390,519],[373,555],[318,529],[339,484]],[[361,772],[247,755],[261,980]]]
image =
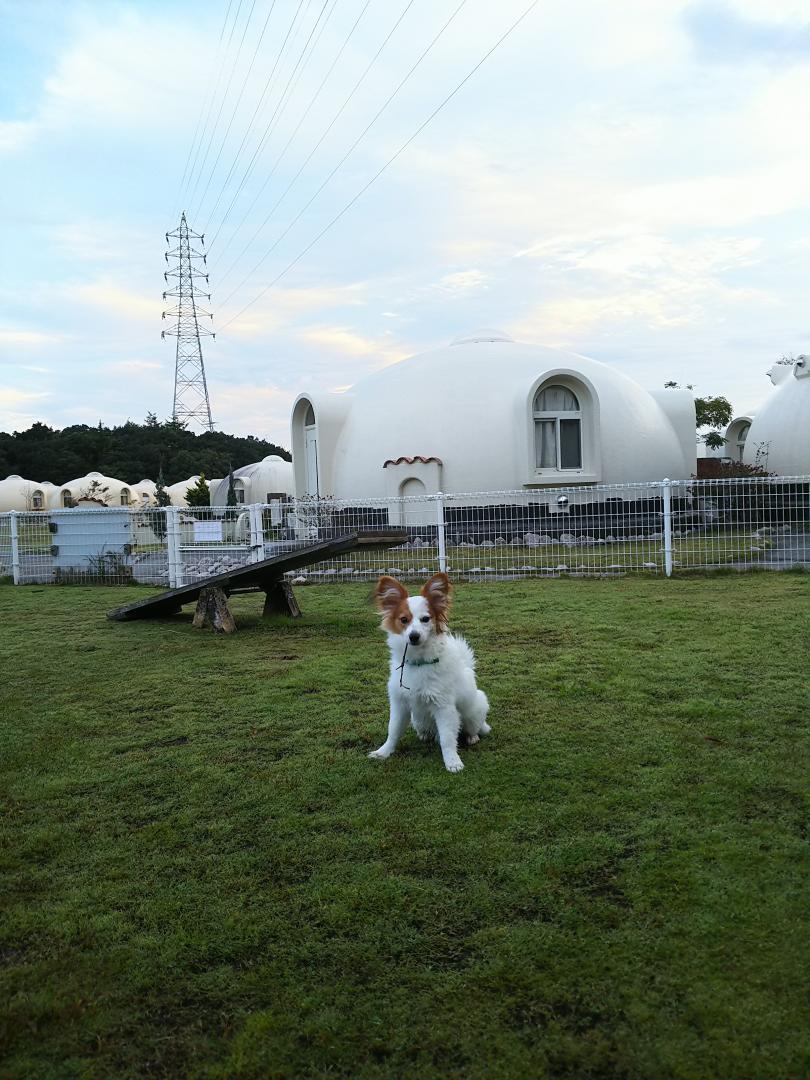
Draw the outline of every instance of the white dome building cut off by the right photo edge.
[[[774,364],[768,375],[773,390],[751,420],[742,460],[779,476],[810,475],[810,356]]]

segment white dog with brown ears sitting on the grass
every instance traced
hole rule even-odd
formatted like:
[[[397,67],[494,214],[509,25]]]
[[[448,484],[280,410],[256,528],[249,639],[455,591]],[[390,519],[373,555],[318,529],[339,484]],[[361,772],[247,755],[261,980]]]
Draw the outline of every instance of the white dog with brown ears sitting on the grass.
[[[408,720],[422,740],[438,739],[445,768],[459,772],[459,734],[467,744],[490,730],[489,702],[475,684],[475,657],[463,639],[447,633],[450,581],[434,573],[418,596],[395,578],[382,577],[374,598],[391,649],[388,738],[368,756],[384,760],[402,738]]]

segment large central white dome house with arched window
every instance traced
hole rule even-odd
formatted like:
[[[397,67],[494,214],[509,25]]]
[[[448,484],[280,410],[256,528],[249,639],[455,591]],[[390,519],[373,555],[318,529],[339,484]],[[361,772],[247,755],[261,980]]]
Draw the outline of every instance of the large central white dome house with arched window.
[[[362,500],[684,480],[688,391],[478,330],[293,406],[297,496]]]

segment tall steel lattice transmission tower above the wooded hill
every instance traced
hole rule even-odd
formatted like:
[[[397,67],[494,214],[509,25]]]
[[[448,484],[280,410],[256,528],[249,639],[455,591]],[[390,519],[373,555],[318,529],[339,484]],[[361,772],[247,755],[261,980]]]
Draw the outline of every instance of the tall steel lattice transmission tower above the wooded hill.
[[[170,238],[177,241],[177,246],[166,252],[166,262],[176,259],[172,269],[163,274],[166,283],[170,278],[176,278],[177,284],[174,288],[166,289],[163,299],[167,296],[177,297],[177,307],[171,311],[163,312],[176,319],[175,325],[167,330],[163,330],[162,338],[166,335],[177,338],[177,352],[174,369],[174,405],[172,407],[172,418],[184,420],[187,423],[201,423],[208,431],[214,430],[214,421],[211,418],[211,402],[208,401],[208,387],[205,382],[205,367],[203,365],[202,337],[216,337],[213,330],[200,326],[200,319],[211,319],[214,316],[210,311],[203,311],[198,306],[198,298],[205,297],[211,300],[211,293],[202,293],[194,284],[201,279],[208,284],[208,275],[204,270],[198,269],[202,259],[206,265],[205,254],[198,252],[191,246],[194,240],[200,241],[202,247],[204,237],[199,232],[192,232],[187,222],[184,212],[180,224],[174,232],[166,233],[166,244]]]

